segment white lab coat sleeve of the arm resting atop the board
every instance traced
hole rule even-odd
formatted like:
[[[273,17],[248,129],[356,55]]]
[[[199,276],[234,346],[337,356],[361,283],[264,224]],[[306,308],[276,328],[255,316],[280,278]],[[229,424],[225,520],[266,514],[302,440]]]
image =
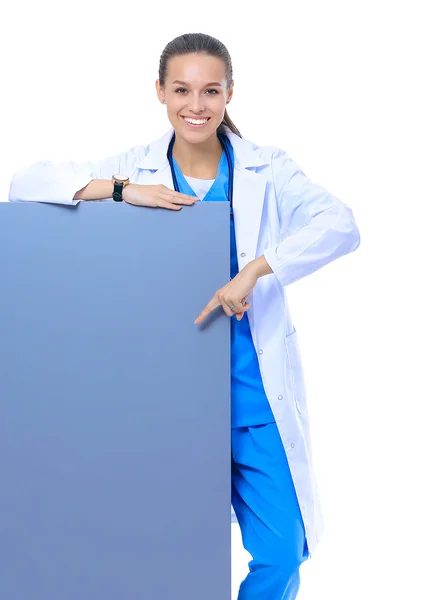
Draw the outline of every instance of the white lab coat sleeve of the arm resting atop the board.
[[[113,175],[133,173],[146,154],[144,146],[134,146],[126,152],[99,162],[53,163],[42,160],[16,171],[9,187],[10,202],[51,202],[76,205],[76,192],[93,179],[112,179]]]

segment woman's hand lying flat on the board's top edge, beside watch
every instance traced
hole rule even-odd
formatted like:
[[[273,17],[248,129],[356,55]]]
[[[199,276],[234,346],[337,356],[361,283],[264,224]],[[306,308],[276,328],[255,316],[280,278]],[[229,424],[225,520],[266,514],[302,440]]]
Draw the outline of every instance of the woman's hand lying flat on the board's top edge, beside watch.
[[[123,200],[135,206],[181,210],[180,204],[193,205],[199,198],[170,190],[165,185],[129,183],[123,188]]]

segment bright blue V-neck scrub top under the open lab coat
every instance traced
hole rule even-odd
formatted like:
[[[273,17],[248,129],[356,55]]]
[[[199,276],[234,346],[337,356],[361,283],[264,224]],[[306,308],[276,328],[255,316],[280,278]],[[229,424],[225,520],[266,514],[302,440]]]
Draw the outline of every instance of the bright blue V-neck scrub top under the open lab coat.
[[[234,154],[227,136],[224,136],[230,153],[232,164]],[[189,196],[196,196],[194,190],[182,174],[178,163],[172,157],[179,191]],[[228,202],[229,168],[223,151],[218,164],[216,179],[204,196],[204,202]],[[236,253],[235,227],[232,210],[230,211],[230,276],[238,274],[238,258]],[[235,316],[231,324],[231,423],[232,427],[247,427],[274,423],[275,419],[259,370],[247,312],[241,321]]]

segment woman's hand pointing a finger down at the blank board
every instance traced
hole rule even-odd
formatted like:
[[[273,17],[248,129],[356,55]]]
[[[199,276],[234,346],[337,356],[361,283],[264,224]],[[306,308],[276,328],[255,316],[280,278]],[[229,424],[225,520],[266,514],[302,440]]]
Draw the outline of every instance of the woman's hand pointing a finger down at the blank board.
[[[217,306],[222,306],[224,312],[228,317],[232,317],[236,314],[238,321],[244,316],[244,313],[249,310],[250,302],[245,302],[247,297],[251,294],[253,288],[258,281],[258,275],[255,269],[251,265],[246,265],[236,277],[231,279],[224,287],[219,289],[210,302],[204,307],[200,315],[195,320],[194,324],[197,325],[204,321],[204,319],[214,310]],[[230,306],[234,306],[234,309],[230,309]]]

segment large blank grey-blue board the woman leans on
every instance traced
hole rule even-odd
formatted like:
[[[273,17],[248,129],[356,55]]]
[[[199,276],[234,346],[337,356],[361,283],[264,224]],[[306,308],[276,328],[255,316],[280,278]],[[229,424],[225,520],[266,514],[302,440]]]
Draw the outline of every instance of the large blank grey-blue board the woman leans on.
[[[230,598],[229,205],[0,203],[0,599]]]

